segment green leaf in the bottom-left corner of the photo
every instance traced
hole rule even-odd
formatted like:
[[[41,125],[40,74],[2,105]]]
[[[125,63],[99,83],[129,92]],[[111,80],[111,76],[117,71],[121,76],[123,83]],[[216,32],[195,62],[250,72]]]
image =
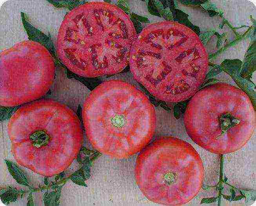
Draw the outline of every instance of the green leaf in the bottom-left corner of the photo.
[[[0,199],[5,205],[7,205],[12,202],[16,202],[21,194],[24,194],[23,190],[17,190],[16,188],[9,186],[7,189],[0,190]]]

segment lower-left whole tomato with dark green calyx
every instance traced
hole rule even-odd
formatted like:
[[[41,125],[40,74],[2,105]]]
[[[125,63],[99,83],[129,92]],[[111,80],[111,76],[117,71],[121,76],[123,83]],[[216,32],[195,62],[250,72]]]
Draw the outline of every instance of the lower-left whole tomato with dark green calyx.
[[[8,124],[16,161],[30,170],[52,176],[76,158],[83,131],[76,114],[53,100],[37,100],[19,108]]]

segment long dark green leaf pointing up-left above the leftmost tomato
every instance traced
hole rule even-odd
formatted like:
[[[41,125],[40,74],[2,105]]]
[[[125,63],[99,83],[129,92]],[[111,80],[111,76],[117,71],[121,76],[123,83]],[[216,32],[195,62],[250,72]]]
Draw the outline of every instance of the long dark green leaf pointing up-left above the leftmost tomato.
[[[46,36],[44,33],[42,33],[42,31],[36,29],[33,25],[31,25],[31,23],[29,23],[25,13],[21,12],[20,14],[28,39],[42,44],[53,55],[53,57],[56,58],[56,51],[53,41],[51,40],[51,35],[48,33],[48,36]]]

